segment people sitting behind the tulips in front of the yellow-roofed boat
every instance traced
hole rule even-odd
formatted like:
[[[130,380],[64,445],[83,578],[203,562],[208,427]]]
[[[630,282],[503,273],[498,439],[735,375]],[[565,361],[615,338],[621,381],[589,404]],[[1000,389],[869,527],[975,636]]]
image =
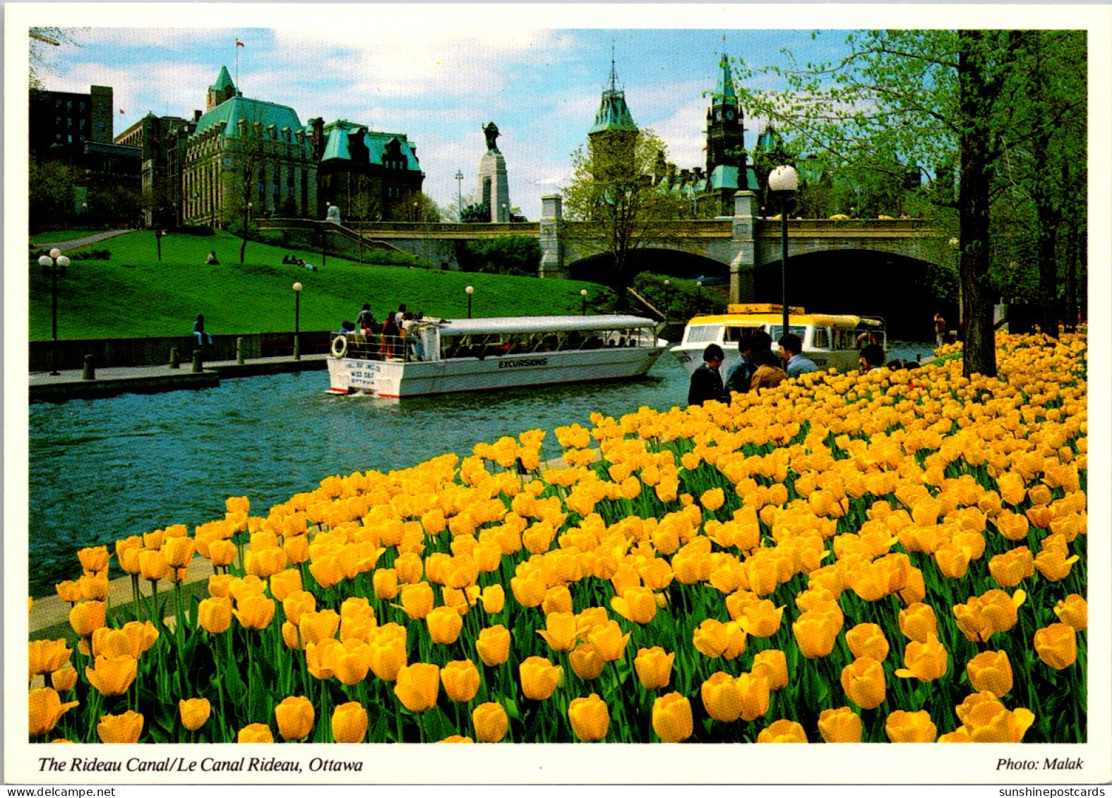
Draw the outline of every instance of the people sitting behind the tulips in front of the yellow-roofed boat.
[[[692,373],[687,403],[703,405],[713,399],[728,405],[734,392],[775,388],[790,377],[818,370],[814,361],[803,355],[803,340],[794,332],[781,336],[777,343],[783,359],[772,351],[772,336],[767,332],[744,332],[737,342],[737,362],[729,369],[725,382],[721,373],[725,353],[717,343],[707,345],[703,350],[703,365]],[[884,348],[878,343],[864,346],[858,363],[862,371],[881,368]]]

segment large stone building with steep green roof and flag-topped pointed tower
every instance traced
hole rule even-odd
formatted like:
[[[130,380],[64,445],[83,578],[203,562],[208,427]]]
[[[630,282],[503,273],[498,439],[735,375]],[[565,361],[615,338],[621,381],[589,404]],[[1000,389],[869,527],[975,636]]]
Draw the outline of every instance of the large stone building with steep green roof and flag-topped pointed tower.
[[[181,221],[224,227],[248,213],[310,218],[316,211],[317,160],[297,112],[245,98],[221,68],[186,141]]]

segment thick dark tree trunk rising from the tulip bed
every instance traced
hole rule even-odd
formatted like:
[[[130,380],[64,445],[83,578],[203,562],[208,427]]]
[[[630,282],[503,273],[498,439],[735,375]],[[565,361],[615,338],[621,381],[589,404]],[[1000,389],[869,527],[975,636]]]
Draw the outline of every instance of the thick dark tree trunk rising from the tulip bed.
[[[961,219],[963,331],[962,373],[996,376],[996,342],[989,295],[989,163],[992,141],[991,104],[985,74],[986,42],[981,31],[959,32],[959,108],[962,120],[961,180],[957,189]]]

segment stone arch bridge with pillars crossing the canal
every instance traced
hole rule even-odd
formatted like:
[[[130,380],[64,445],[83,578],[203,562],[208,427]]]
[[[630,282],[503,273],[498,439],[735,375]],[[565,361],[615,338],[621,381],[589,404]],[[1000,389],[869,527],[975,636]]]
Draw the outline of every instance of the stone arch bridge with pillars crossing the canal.
[[[558,194],[542,198],[539,222],[421,223],[367,222],[340,227],[331,222],[266,219],[260,229],[328,229],[368,247],[404,250],[433,262],[457,267],[456,242],[502,236],[529,236],[540,242],[540,277],[566,278],[577,261],[605,255],[594,241],[577,235],[577,225],[563,219]],[[734,197],[734,216],[677,221],[671,241],[643,242],[645,249],[665,249],[699,256],[729,269],[731,301],[754,299],[754,272],[781,259],[781,222],[756,215],[752,191]],[[327,226],[327,228],[325,227]],[[943,251],[939,233],[917,219],[790,219],[787,257],[836,250],[872,250],[932,261]]]

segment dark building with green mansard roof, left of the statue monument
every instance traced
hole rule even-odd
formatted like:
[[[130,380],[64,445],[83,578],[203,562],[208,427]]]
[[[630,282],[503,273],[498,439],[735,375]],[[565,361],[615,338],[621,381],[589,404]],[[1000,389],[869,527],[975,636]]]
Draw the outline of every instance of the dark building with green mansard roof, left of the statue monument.
[[[326,124],[320,117],[310,119],[308,128],[317,161],[315,218],[324,219],[327,207],[336,205],[345,220],[411,220],[425,172],[417,146],[405,133],[344,119]]]

